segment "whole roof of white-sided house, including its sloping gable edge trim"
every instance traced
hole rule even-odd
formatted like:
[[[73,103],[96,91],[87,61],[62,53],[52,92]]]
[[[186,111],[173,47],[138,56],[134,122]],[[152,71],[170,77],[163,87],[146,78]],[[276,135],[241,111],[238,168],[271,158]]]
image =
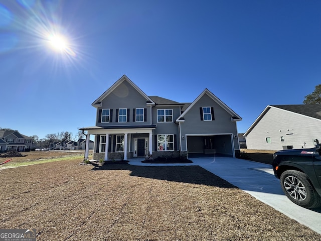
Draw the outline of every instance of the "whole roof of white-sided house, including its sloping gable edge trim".
[[[285,105],[268,105],[262,111],[262,113],[256,118],[254,123],[250,128],[245,132],[244,136],[246,137],[253,128],[261,121],[263,116],[271,108],[282,109],[284,111],[293,112],[300,115],[305,115],[311,118],[321,119],[321,104],[285,104]]]

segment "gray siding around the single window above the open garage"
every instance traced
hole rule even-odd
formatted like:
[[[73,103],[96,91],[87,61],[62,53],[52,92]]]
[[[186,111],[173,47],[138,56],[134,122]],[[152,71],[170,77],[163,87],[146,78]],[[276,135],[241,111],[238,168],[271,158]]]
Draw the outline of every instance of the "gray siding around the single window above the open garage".
[[[214,121],[201,121],[200,107],[214,108]],[[231,121],[231,114],[222,108],[210,96],[204,94],[185,114],[181,123],[181,136],[201,134],[233,134],[237,136],[236,122]],[[237,139],[233,139],[235,150],[239,150]],[[182,142],[182,151],[186,151],[186,142]]]

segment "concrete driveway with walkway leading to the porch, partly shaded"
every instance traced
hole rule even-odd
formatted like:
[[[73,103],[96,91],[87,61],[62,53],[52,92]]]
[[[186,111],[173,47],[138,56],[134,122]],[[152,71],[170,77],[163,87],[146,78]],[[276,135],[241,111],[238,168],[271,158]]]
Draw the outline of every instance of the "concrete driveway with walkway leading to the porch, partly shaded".
[[[131,159],[137,166],[201,166],[229,183],[321,234],[321,208],[306,209],[292,203],[283,193],[271,165],[236,158],[190,158],[187,164],[147,164]]]

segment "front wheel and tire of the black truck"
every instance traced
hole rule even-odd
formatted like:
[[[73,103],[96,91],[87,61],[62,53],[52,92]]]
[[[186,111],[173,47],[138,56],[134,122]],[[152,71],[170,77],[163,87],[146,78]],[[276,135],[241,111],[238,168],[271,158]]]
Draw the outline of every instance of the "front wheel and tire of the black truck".
[[[287,170],[282,173],[280,181],[283,192],[295,204],[305,208],[321,205],[321,197],[314,190],[305,173]]]

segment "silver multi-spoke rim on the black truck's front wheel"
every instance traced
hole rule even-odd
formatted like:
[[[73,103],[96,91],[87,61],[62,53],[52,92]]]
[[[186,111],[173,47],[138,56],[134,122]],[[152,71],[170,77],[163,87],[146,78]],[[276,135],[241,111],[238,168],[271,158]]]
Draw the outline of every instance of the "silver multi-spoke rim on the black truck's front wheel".
[[[286,192],[297,201],[304,201],[306,198],[306,189],[303,183],[293,176],[284,179],[284,188]]]

